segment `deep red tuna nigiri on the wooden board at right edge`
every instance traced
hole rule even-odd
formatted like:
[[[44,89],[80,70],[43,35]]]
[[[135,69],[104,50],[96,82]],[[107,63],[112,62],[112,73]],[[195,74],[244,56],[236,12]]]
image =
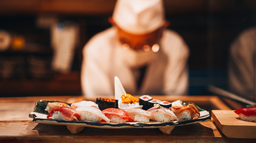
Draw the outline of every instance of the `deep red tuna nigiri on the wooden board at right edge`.
[[[239,118],[246,121],[256,122],[256,105],[253,107],[244,107],[234,111]]]

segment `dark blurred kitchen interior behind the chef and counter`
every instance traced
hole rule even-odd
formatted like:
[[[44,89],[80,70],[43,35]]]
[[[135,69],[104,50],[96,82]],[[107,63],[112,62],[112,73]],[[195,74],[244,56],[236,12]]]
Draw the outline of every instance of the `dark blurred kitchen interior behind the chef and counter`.
[[[0,52],[0,96],[81,95],[82,48],[96,33],[110,27],[115,0],[18,0],[0,1],[0,30],[25,38],[22,50]],[[227,89],[228,49],[245,29],[256,25],[256,2],[252,0],[165,0],[169,29],[178,32],[190,49],[189,95],[212,95],[209,85]],[[79,24],[79,44],[72,70],[50,68],[50,29],[39,28],[39,15],[56,16]],[[44,62],[46,72],[33,73],[30,59]],[[11,61],[11,62],[10,62]],[[4,65],[10,74],[3,76]]]

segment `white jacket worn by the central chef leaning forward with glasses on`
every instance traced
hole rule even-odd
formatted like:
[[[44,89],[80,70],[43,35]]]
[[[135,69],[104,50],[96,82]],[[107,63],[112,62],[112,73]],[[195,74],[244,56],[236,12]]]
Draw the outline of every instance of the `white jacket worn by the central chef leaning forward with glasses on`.
[[[117,29],[111,27],[92,37],[83,48],[82,92],[86,97],[114,95],[114,77],[131,95],[184,95],[188,87],[189,49],[176,32],[165,29],[156,58],[147,64],[138,88],[133,69],[123,62],[117,44]],[[138,88],[138,89],[137,89]]]

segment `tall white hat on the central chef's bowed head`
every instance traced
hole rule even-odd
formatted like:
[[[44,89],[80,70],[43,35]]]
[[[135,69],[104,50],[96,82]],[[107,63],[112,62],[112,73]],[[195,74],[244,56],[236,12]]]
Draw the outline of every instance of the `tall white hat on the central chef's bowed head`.
[[[119,28],[131,34],[147,34],[164,23],[162,0],[117,0],[113,20]]]

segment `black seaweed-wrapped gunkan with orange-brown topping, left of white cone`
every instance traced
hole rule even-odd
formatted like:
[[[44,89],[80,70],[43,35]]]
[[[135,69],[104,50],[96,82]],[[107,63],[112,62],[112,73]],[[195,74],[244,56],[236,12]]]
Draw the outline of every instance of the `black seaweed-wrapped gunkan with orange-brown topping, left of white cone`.
[[[116,100],[108,99],[108,98],[97,98],[96,104],[98,104],[99,109],[102,111],[107,108],[116,108]]]

